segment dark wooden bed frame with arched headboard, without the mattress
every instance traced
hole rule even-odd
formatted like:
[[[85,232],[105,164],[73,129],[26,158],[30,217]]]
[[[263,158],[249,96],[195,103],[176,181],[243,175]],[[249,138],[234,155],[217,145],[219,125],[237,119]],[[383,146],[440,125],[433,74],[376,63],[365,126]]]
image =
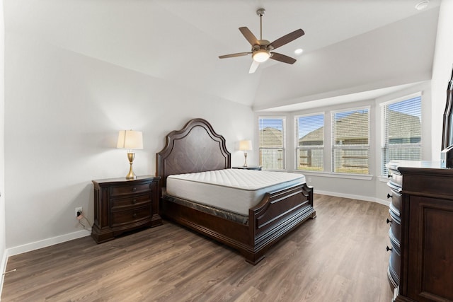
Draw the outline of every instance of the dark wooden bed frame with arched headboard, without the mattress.
[[[190,120],[183,129],[166,136],[166,146],[156,153],[156,175],[161,176],[161,215],[231,248],[256,265],[271,245],[307,219],[314,219],[313,188],[304,183],[268,192],[248,210],[243,224],[205,211],[171,202],[165,194],[168,175],[231,168],[225,139],[209,122]],[[162,192],[164,192],[162,194]]]

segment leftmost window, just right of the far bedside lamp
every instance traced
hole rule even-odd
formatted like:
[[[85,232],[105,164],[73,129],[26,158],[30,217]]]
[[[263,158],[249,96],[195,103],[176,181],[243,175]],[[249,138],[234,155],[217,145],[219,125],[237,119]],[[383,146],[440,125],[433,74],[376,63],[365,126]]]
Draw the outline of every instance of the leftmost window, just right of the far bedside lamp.
[[[260,117],[260,165],[263,169],[285,169],[285,118]]]

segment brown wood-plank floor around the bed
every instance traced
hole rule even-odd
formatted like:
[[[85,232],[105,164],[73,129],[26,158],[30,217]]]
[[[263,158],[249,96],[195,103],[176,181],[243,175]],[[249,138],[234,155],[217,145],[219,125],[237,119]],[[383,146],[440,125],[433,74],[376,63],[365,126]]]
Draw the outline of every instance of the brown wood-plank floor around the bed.
[[[316,219],[258,265],[176,224],[8,259],[1,301],[389,302],[388,207],[315,194]]]

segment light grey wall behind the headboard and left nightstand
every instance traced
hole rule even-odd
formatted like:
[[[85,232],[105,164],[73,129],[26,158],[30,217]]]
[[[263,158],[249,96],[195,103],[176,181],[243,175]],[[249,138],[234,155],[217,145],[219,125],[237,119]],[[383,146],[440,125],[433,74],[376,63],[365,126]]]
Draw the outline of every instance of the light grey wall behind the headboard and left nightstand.
[[[202,117],[224,135],[232,163],[236,141],[253,137],[253,112],[137,71],[6,32],[6,248],[10,254],[86,236],[93,222],[91,180],[128,172],[121,129],[141,130],[134,172],[154,175],[164,138]],[[249,158],[254,162],[253,155]]]

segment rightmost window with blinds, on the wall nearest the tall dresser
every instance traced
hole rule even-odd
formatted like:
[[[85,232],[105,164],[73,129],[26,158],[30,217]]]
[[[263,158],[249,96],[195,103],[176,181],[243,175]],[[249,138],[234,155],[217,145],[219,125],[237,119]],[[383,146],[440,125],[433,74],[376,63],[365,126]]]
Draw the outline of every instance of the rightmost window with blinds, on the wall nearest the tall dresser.
[[[421,94],[382,105],[382,175],[394,160],[421,161]]]

